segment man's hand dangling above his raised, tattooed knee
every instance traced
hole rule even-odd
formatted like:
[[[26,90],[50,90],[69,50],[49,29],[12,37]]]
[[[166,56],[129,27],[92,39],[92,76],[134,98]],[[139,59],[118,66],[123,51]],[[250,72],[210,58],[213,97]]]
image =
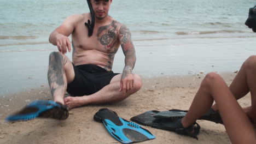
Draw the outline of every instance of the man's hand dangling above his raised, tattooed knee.
[[[70,40],[65,35],[62,35],[62,34],[56,35],[56,44],[59,52],[61,52],[62,54],[65,54],[67,52],[67,49],[68,49],[68,52],[71,52]]]

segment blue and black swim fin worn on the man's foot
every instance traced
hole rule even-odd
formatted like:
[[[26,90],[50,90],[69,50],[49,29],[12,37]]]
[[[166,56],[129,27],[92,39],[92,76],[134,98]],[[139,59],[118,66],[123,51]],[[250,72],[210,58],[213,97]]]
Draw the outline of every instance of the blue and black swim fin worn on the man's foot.
[[[36,117],[67,119],[68,109],[65,105],[52,100],[35,100],[24,109],[5,118],[5,121],[28,121]]]

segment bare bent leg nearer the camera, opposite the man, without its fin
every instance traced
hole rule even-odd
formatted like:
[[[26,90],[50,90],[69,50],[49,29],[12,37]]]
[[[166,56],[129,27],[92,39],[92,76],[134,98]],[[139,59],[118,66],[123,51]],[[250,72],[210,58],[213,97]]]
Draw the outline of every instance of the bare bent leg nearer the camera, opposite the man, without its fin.
[[[193,124],[216,101],[219,113],[232,143],[255,142],[253,125],[225,81],[216,73],[209,73],[203,79],[187,115],[182,119],[184,127]]]

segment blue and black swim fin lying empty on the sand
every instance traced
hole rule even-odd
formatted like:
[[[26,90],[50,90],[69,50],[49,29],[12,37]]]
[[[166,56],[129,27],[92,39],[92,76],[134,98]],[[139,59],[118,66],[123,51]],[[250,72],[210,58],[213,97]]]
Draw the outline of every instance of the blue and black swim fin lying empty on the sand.
[[[148,130],[140,125],[128,122],[118,117],[117,113],[109,109],[100,109],[94,115],[94,120],[102,122],[108,132],[122,143],[142,142],[155,139]]]

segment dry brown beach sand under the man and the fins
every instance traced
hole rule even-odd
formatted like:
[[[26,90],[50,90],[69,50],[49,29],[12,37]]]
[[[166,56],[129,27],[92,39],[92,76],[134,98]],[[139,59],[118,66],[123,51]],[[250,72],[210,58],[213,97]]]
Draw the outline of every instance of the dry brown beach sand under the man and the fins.
[[[235,73],[221,74],[228,85]],[[70,110],[65,121],[36,118],[32,121],[8,123],[4,117],[20,110],[36,99],[51,99],[48,85],[30,91],[5,95],[0,105],[0,143],[119,143],[104,128],[95,122],[94,114],[101,108],[108,108],[124,119],[149,110],[188,110],[205,74],[187,76],[164,76],[143,78],[140,91],[119,103],[87,105]],[[250,95],[238,100],[242,106],[251,104]],[[156,139],[142,143],[231,143],[222,124],[197,121],[201,126],[199,141],[178,135],[171,131],[144,127]]]

